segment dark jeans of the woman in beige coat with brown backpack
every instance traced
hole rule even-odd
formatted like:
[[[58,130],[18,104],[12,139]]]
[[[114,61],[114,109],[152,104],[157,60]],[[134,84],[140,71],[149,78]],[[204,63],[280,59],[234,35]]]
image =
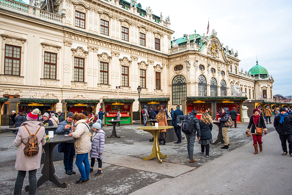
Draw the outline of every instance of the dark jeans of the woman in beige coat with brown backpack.
[[[26,171],[18,171],[17,178],[14,185],[14,194],[21,194],[23,180],[25,178]],[[28,180],[29,180],[29,194],[36,194],[36,169],[28,171]]]

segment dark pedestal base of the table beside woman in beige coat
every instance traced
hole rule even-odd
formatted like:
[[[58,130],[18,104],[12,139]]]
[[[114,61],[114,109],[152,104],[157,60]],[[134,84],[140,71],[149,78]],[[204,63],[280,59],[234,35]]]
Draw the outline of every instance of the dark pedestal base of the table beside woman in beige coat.
[[[46,181],[51,181],[53,182],[56,186],[65,188],[67,187],[67,182],[61,182],[57,176],[54,174],[55,173],[55,167],[53,165],[53,149],[58,143],[50,143],[50,144],[45,144],[43,146],[45,150],[45,161],[44,161],[44,166],[41,169],[41,174],[43,174],[38,180],[36,187],[39,187]],[[49,171],[45,171],[49,170]],[[25,191],[29,191],[29,185],[25,186]]]

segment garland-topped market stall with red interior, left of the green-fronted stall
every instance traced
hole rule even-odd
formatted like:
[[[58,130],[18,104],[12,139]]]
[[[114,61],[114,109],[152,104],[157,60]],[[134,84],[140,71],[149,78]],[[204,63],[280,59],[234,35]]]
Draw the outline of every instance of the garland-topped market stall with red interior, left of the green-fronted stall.
[[[97,105],[99,100],[92,100],[92,99],[63,99],[62,103],[62,112],[67,116],[67,113],[80,113],[81,110],[84,110],[88,115],[92,112],[96,113]]]

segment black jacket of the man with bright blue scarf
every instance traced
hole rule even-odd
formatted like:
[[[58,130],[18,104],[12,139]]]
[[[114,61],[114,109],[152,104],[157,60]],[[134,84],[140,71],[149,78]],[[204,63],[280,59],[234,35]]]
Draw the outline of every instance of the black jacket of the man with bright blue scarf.
[[[280,120],[281,120],[280,116],[276,116],[274,119],[274,127],[276,131],[280,135],[292,134],[292,116],[287,115],[284,118],[284,122],[282,124],[280,123]]]

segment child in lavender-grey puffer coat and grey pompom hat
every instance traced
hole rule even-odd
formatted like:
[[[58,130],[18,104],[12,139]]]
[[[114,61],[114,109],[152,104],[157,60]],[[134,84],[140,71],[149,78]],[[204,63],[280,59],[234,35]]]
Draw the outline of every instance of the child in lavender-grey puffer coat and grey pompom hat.
[[[98,171],[95,176],[102,174],[102,153],[105,145],[105,132],[101,129],[101,120],[98,119],[93,125],[93,134],[90,137],[91,140],[91,151],[89,153],[91,158],[90,170],[93,172],[93,167],[95,164],[95,159],[98,161]]]

